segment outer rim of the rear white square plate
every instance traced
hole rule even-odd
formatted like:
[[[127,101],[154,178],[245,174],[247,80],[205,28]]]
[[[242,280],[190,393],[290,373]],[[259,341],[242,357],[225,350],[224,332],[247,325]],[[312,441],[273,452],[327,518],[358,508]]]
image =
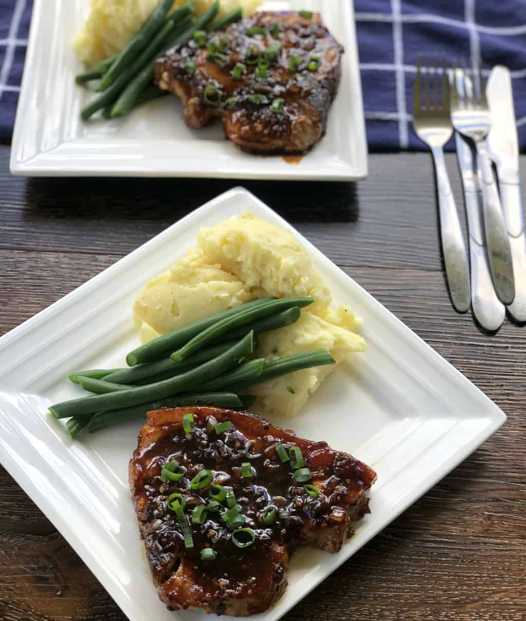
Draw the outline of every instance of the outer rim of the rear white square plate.
[[[47,0],[49,1],[49,0]],[[59,3],[61,0],[54,0]],[[356,22],[354,17],[353,2],[340,0],[339,11],[345,19],[345,48],[350,56],[350,91],[355,97],[355,112],[350,122],[353,126],[355,134],[355,142],[359,145],[356,150],[356,161],[350,163],[338,157],[338,166],[326,173],[302,170],[299,166],[288,165],[279,170],[270,169],[261,173],[248,172],[238,166],[238,170],[234,171],[212,171],[207,170],[204,174],[199,170],[181,170],[163,168],[150,168],[149,166],[134,166],[132,163],[119,166],[98,166],[90,163],[88,158],[87,164],[73,163],[71,166],[67,163],[53,164],[55,157],[60,148],[67,145],[67,142],[60,142],[57,147],[50,151],[40,151],[29,160],[21,160],[19,158],[20,148],[24,144],[25,132],[25,115],[27,113],[27,99],[30,93],[30,78],[32,76],[32,68],[30,68],[30,58],[38,47],[39,41],[39,22],[42,19],[41,14],[44,10],[44,0],[34,0],[34,7],[31,17],[29,37],[26,50],[26,62],[22,74],[20,84],[19,102],[17,105],[16,118],[11,142],[11,157],[9,161],[9,170],[14,176],[122,176],[122,177],[150,177],[150,178],[218,178],[218,179],[283,179],[302,180],[302,181],[358,181],[364,179],[368,175],[368,145],[365,130],[365,116],[363,112],[363,93],[361,88],[360,58],[358,55],[358,37],[356,34]],[[82,140],[82,138],[80,138]],[[73,141],[72,141],[73,142]],[[158,140],[151,142],[159,142]],[[198,141],[195,141],[196,143]],[[97,142],[98,144],[98,142]],[[63,156],[64,162],[68,160],[68,156]]]

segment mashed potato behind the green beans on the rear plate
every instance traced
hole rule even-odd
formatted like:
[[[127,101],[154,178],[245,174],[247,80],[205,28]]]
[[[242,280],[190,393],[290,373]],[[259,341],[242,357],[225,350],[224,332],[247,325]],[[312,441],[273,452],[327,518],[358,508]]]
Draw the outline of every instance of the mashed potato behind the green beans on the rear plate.
[[[120,52],[150,16],[159,0],[91,0],[84,27],[75,37],[75,52],[88,66]],[[175,0],[172,11],[185,4]],[[208,9],[214,0],[194,0],[197,16]],[[243,16],[252,15],[261,0],[221,0],[218,17],[238,5]],[[217,19],[217,18],[216,18]]]

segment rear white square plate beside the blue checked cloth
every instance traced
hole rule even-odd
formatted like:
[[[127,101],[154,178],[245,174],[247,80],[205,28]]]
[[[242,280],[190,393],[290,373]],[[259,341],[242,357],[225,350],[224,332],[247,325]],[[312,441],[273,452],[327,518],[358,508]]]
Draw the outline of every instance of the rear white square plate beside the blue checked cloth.
[[[83,68],[73,33],[89,0],[35,0],[11,150],[11,173],[27,176],[167,176],[234,179],[361,179],[367,145],[360,70],[350,0],[265,0],[263,9],[310,9],[345,45],[342,81],[327,134],[298,164],[281,156],[243,153],[221,124],[186,127],[182,106],[163,97],[110,122],[83,123],[92,96],[75,84]]]

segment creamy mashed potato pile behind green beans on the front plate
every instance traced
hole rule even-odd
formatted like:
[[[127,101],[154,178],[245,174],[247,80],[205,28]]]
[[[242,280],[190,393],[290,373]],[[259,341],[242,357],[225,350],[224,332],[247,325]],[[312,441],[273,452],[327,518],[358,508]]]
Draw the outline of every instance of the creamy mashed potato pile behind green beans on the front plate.
[[[326,347],[337,362],[365,350],[350,308],[331,306],[332,295],[302,245],[286,229],[250,212],[201,229],[197,247],[153,278],[137,297],[134,316],[143,343],[258,297],[312,296],[296,324],[261,334],[257,357],[267,360]],[[335,365],[296,371],[250,388],[253,410],[296,414]],[[289,388],[292,389],[291,392]]]

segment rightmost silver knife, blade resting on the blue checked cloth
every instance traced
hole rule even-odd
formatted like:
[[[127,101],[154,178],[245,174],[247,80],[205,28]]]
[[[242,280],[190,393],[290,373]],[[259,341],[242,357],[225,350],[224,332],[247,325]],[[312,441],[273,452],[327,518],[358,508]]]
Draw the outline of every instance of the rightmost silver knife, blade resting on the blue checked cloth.
[[[526,235],[520,201],[519,143],[511,76],[506,67],[496,66],[491,71],[486,97],[492,117],[487,151],[497,166],[515,275],[515,299],[507,309],[516,321],[526,322]]]

